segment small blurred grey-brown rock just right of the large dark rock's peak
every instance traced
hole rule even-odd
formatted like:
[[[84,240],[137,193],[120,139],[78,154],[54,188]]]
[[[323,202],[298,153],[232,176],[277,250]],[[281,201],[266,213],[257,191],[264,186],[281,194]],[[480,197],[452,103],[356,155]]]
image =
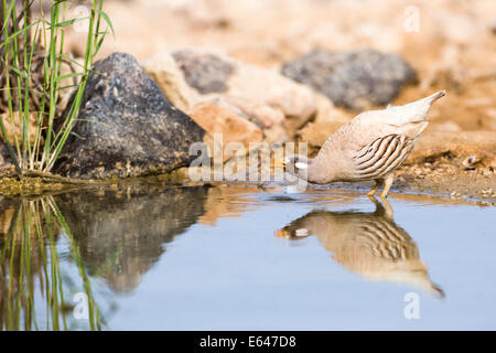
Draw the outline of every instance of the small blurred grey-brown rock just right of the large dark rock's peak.
[[[227,79],[234,72],[230,63],[212,54],[177,51],[172,54],[184,73],[186,83],[201,94],[222,93],[228,89]]]

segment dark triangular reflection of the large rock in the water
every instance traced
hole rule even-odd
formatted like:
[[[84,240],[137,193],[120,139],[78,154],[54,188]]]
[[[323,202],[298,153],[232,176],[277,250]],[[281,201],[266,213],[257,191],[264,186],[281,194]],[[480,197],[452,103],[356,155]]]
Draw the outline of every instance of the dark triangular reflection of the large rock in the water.
[[[138,287],[164,244],[204,213],[208,188],[120,185],[55,197],[91,276],[117,292]]]

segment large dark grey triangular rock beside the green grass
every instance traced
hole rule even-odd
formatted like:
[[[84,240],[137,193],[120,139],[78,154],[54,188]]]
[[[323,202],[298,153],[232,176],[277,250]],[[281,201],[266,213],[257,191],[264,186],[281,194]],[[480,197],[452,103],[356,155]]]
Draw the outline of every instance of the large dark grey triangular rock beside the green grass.
[[[170,172],[195,158],[188,156],[190,145],[202,141],[205,131],[163,96],[131,55],[112,54],[93,69],[55,172],[138,176]]]

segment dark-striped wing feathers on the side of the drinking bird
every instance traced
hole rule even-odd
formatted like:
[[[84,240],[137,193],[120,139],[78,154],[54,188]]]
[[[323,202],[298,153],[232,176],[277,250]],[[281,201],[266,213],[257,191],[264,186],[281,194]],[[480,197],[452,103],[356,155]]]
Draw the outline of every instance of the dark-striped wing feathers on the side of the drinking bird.
[[[352,153],[356,178],[380,179],[392,172],[413,149],[414,139],[389,133],[376,138]]]

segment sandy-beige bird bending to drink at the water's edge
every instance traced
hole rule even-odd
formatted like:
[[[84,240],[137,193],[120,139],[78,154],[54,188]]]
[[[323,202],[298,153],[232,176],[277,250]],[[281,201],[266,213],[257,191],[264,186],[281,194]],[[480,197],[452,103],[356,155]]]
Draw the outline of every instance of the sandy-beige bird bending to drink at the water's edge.
[[[276,161],[274,167],[314,184],[375,181],[367,195],[384,185],[380,197],[385,200],[395,181],[393,171],[429,125],[429,109],[445,94],[440,90],[402,106],[360,113],[332,133],[315,158],[292,154]]]

